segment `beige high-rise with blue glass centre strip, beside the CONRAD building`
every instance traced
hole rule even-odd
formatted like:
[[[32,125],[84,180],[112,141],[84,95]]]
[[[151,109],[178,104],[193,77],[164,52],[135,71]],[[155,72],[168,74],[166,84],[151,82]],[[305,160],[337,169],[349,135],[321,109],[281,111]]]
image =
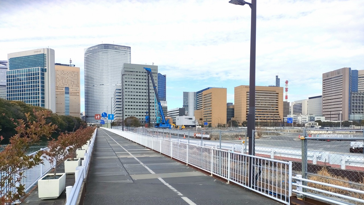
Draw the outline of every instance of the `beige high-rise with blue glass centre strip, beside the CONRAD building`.
[[[55,63],[56,113],[80,117],[80,68]]]

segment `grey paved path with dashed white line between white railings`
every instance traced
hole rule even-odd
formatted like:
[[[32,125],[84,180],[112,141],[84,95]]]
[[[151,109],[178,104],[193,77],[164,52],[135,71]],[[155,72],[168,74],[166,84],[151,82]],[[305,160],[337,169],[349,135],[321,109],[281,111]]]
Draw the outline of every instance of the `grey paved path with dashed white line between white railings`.
[[[84,204],[276,205],[112,132],[98,129]]]

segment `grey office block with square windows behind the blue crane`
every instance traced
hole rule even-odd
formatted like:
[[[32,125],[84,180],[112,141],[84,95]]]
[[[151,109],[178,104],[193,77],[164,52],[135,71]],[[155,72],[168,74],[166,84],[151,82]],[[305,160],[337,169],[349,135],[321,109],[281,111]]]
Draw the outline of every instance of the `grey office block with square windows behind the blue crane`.
[[[124,119],[130,116],[137,117],[141,123],[145,122],[146,112],[148,111],[148,87],[147,79],[149,78],[150,92],[150,122],[155,123],[155,112],[158,106],[155,106],[155,93],[152,81],[147,75],[144,67],[152,70],[154,83],[158,92],[158,66],[155,65],[139,65],[124,63],[122,70],[124,91],[122,91],[122,104],[124,104]],[[163,112],[164,113],[164,112]],[[164,113],[166,116],[166,113]]]

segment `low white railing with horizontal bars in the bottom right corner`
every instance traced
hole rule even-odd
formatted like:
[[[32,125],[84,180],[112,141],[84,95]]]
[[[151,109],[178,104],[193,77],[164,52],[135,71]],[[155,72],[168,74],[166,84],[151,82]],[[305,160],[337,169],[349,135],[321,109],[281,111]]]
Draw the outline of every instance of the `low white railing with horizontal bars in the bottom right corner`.
[[[322,189],[316,189],[316,188],[310,187],[310,186],[305,186],[305,185],[302,185],[302,182],[310,182],[310,183],[323,185],[323,186],[327,186],[327,187],[332,187],[334,189],[346,190],[348,192],[358,193],[358,194],[364,194],[364,191],[362,191],[362,190],[351,189],[351,188],[344,187],[344,186],[338,186],[338,185],[328,184],[328,183],[324,183],[324,182],[313,181],[310,179],[304,179],[304,178],[302,178],[302,175],[300,175],[300,174],[297,174],[296,177],[292,177],[292,179],[296,179],[296,183],[292,183],[292,185],[297,187],[297,189],[292,190],[292,192],[297,193],[298,195],[306,195],[309,197],[317,198],[320,200],[324,200],[324,201],[328,201],[328,202],[332,202],[334,204],[340,204],[340,205],[347,205],[348,203],[345,201],[342,201],[342,200],[339,201],[339,200],[337,200],[337,198],[364,203],[364,200],[362,200],[362,199],[351,197],[351,196],[346,196],[346,195],[338,194],[338,193],[334,193],[334,192],[329,192],[329,191],[325,191]],[[328,198],[328,197],[324,197],[322,195],[320,196],[318,194],[309,193],[309,192],[304,191],[303,189],[312,190],[313,192],[316,192],[316,193],[326,194],[327,196],[332,196],[333,198]]]

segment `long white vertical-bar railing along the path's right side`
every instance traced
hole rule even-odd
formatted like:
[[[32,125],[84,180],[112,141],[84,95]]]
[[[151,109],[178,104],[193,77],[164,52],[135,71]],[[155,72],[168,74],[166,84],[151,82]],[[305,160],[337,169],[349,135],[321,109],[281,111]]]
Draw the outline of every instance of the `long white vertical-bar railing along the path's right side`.
[[[215,174],[229,182],[237,183],[254,192],[258,192],[284,204],[289,204],[292,195],[292,162],[246,155],[232,150],[220,150],[179,142],[169,138],[146,136],[127,131],[103,128],[123,136],[133,142],[142,144],[171,158],[185,162],[198,169]],[[249,163],[252,169],[249,170]],[[249,186],[249,172],[253,175]]]

